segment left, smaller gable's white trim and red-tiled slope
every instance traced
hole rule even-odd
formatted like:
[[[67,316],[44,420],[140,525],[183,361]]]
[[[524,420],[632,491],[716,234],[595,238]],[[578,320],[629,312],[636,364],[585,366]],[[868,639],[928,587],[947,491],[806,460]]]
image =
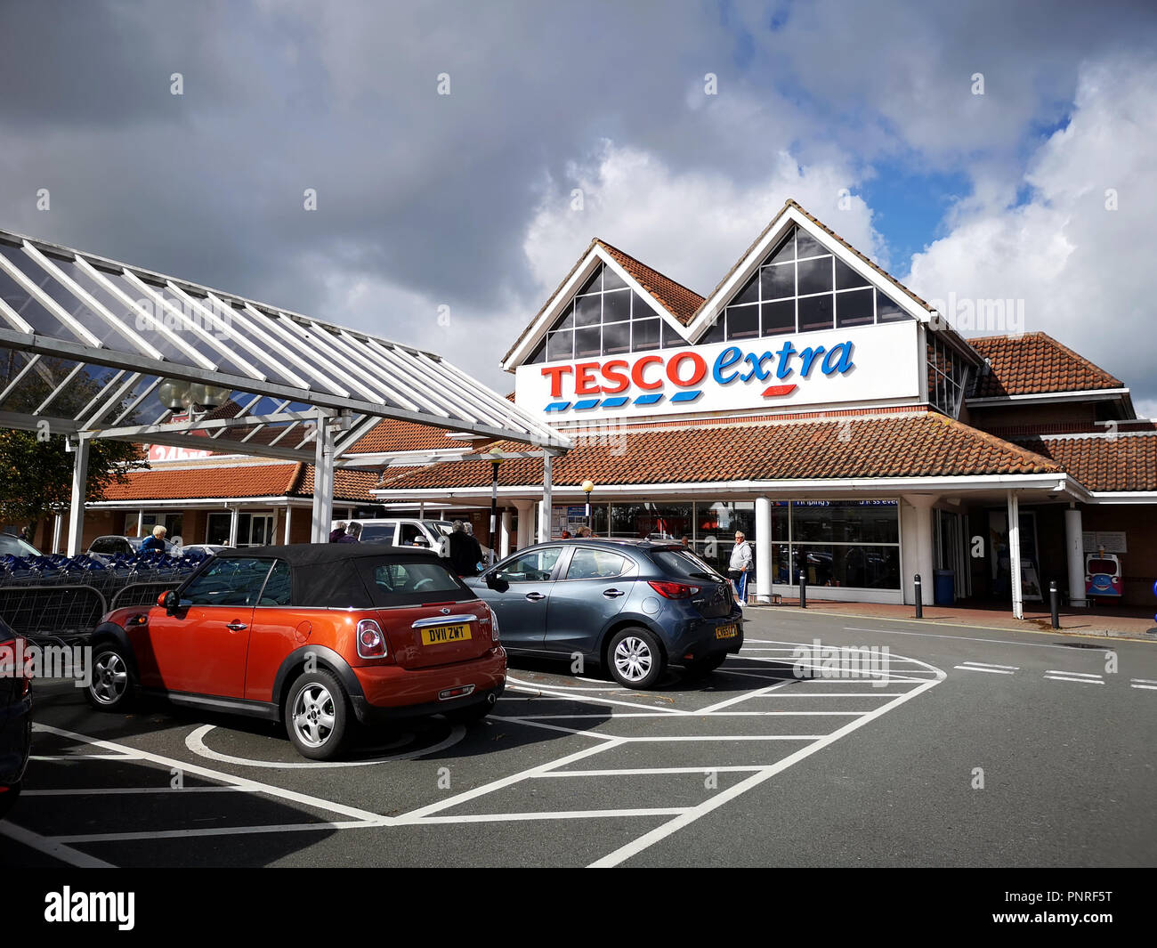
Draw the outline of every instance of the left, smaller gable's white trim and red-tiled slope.
[[[611,267],[675,331],[685,336],[684,326],[702,303],[703,297],[683,284],[653,270],[629,253],[625,253],[617,247],[596,237],[588,244],[582,256],[570,267],[570,272],[559,284],[558,289],[543,308],[538,310],[522,335],[515,339],[507,354],[502,357],[502,368],[507,372],[514,372],[522,365],[600,263]]]

